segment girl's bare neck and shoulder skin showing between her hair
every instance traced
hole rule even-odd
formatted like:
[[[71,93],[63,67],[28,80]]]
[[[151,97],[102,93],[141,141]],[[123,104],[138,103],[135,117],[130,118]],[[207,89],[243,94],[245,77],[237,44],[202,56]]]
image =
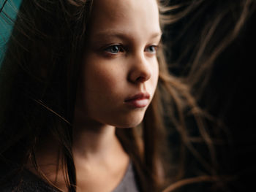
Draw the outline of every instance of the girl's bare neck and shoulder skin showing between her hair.
[[[124,152],[115,134],[116,128],[96,122],[78,123],[73,126],[72,153],[78,179],[78,186],[83,191],[89,187],[95,188],[101,180],[104,185],[118,185],[126,172],[129,156]],[[54,141],[54,139],[52,139]],[[62,191],[67,191],[63,167],[58,166],[59,145],[47,142],[39,148],[37,161],[40,170],[53,185]],[[30,162],[28,168],[38,174]],[[105,173],[105,174],[102,174]],[[111,179],[111,182],[109,180]]]

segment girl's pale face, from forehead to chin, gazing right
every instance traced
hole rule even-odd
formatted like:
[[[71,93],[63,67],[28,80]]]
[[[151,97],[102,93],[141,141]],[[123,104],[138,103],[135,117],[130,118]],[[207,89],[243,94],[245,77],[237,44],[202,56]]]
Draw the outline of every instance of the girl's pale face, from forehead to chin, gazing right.
[[[76,120],[137,126],[157,87],[157,1],[95,0],[88,30]]]

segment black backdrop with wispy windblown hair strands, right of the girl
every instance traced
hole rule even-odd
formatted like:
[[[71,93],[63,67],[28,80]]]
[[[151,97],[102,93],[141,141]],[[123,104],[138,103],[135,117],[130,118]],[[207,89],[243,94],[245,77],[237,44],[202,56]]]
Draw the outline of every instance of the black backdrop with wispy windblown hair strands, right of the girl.
[[[181,152],[183,172],[165,191],[244,191],[255,174],[256,134],[249,112],[255,104],[255,1],[170,4],[163,15],[170,71],[200,108],[192,120],[185,119],[184,133],[194,149]],[[186,186],[192,183],[199,185]]]

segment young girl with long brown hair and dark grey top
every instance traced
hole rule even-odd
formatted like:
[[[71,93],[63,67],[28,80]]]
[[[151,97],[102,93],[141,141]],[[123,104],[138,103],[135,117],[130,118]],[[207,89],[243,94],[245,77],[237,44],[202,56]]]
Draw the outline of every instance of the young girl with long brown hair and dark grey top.
[[[23,0],[1,64],[1,191],[159,191],[160,99],[188,96],[161,35],[156,0]]]

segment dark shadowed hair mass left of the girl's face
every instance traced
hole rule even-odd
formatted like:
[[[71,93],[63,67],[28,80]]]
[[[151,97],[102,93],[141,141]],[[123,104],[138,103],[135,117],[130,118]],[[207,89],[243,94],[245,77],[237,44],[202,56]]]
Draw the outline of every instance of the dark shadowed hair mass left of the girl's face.
[[[69,191],[76,183],[76,74],[90,9],[91,1],[22,1],[1,64],[1,161],[22,170],[31,158],[38,170],[34,148],[53,135]]]

